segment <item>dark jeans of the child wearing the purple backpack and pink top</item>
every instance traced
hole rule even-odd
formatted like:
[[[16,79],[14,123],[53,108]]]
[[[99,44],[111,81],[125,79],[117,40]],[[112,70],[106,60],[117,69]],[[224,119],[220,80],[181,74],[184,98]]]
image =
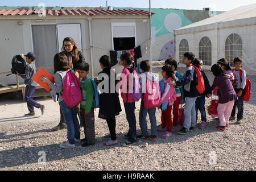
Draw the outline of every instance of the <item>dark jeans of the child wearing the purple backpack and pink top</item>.
[[[136,118],[135,118],[135,102],[123,102],[125,106],[126,119],[129,123],[128,140],[129,142],[137,142]]]

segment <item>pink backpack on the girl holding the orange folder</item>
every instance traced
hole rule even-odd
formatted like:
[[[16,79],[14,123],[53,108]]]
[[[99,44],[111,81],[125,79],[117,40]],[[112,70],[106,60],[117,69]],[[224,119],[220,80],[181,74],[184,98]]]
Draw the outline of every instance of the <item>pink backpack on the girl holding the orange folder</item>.
[[[68,107],[77,106],[82,101],[80,86],[79,78],[77,78],[72,70],[69,69],[67,71],[67,75],[65,76],[62,95],[62,98]]]

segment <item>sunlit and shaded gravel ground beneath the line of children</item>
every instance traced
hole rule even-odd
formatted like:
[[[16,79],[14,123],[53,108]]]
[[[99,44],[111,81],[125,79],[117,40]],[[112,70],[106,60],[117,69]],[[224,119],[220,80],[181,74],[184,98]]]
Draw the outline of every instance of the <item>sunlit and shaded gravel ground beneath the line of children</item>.
[[[184,69],[183,69],[184,70]],[[152,68],[160,73],[160,67]],[[207,72],[210,83],[213,76]],[[249,76],[251,83],[256,76]],[[95,111],[95,146],[62,149],[60,143],[67,140],[67,130],[52,132],[59,122],[59,105],[50,98],[36,99],[46,105],[43,116],[35,110],[35,117],[23,117],[27,106],[22,100],[4,100],[0,102],[0,169],[1,170],[255,170],[255,94],[245,102],[244,122],[236,125],[232,122],[226,131],[218,131],[218,121],[207,115],[205,129],[196,129],[187,135],[177,135],[181,126],[173,127],[173,136],[138,142],[130,147],[122,147],[129,125],[122,105],[117,116],[117,137],[115,146],[104,146],[104,135],[109,133],[106,121],[97,118]],[[206,106],[210,103],[207,98]],[[140,134],[138,115],[140,102],[136,103],[137,131]],[[160,124],[160,113],[156,111]],[[200,114],[199,114],[200,119]],[[148,129],[150,129],[148,122]],[[150,133],[150,130],[149,130]],[[81,138],[84,132],[81,128]],[[46,163],[40,164],[46,154]]]

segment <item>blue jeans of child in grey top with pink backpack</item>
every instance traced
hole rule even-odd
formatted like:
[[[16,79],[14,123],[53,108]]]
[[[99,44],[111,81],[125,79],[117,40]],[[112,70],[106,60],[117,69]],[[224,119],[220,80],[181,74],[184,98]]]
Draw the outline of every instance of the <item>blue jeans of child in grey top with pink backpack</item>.
[[[143,137],[148,136],[147,133],[147,113],[150,118],[151,123],[151,135],[157,134],[156,118],[155,118],[155,107],[146,109],[144,107],[144,102],[141,100],[141,109],[139,109],[139,126],[141,126],[141,135]]]

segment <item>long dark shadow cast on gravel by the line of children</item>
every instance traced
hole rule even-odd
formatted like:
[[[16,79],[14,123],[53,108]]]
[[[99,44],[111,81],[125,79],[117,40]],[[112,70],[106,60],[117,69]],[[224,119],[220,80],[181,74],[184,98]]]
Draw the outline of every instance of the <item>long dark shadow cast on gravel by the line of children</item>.
[[[230,123],[232,125],[232,123]],[[138,141],[137,144],[134,146],[130,147],[140,147],[140,148],[146,148],[145,143],[148,143],[148,146],[154,145],[154,144],[162,144],[162,143],[180,143],[185,140],[188,140],[190,138],[193,138],[197,135],[204,135],[208,133],[215,133],[215,132],[225,132],[225,131],[220,131],[216,129],[216,126],[218,125],[218,121],[212,120],[207,123],[207,127],[205,129],[195,129],[193,131],[190,131],[187,135],[177,135],[177,131],[182,126],[177,126],[174,128],[174,132],[172,137],[167,138],[167,139],[162,139],[161,136],[163,133],[158,133],[158,140],[157,141],[152,141],[151,139],[148,140],[141,140],[140,142]],[[6,135],[1,138],[13,138],[13,137],[19,137],[19,136],[24,136],[24,135],[30,135],[30,134],[35,134],[35,133],[42,133],[42,132],[49,132],[52,131],[51,129],[48,130],[39,130],[39,131],[34,131],[34,132],[28,132],[28,133],[23,133],[23,134],[17,134],[17,135]],[[56,131],[58,132],[58,131]],[[137,135],[141,134],[140,130],[137,130]],[[148,130],[148,134],[150,134],[150,130]],[[57,162],[58,160],[63,160],[63,159],[72,159],[76,158],[77,156],[83,156],[90,154],[94,151],[105,151],[106,155],[108,155],[108,150],[110,148],[114,147],[122,147],[122,144],[127,140],[123,138],[122,133],[117,134],[118,138],[118,144],[114,146],[104,146],[102,144],[103,141],[106,141],[108,139],[104,137],[97,137],[96,138],[96,144],[93,146],[88,146],[88,147],[81,147],[76,146],[75,148],[60,148],[59,144],[50,144],[47,146],[30,146],[30,147],[19,147],[19,148],[14,148],[12,150],[2,150],[0,152],[0,168],[5,168],[5,167],[15,167],[15,166],[22,166],[24,164],[35,164],[40,162],[39,160],[42,156],[39,155],[40,151],[46,152],[46,162]],[[32,139],[32,138],[31,138]],[[13,140],[5,141],[5,142],[12,142]],[[20,140],[20,139],[17,139]],[[23,140],[23,139],[21,139]],[[136,150],[136,148],[134,148]],[[48,163],[47,165],[51,165]],[[38,167],[40,167],[41,164],[38,164]]]

